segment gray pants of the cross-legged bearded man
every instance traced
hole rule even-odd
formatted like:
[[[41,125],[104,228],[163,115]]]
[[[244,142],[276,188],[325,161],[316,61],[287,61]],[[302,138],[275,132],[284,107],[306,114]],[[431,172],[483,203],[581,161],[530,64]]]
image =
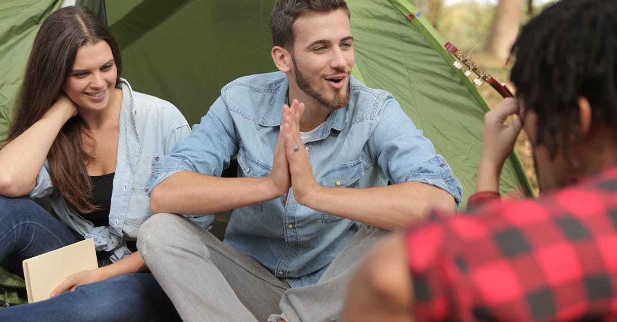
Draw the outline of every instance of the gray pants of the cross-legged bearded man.
[[[138,249],[184,321],[337,321],[357,264],[384,234],[362,225],[317,284],[295,288],[170,213],[141,226]]]

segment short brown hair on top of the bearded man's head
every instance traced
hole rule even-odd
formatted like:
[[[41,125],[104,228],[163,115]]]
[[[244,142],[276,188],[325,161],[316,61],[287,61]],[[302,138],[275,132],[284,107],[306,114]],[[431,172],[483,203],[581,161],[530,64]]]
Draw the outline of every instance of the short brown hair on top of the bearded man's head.
[[[349,8],[344,0],[276,0],[270,14],[270,31],[274,46],[291,51],[294,44],[292,25],[303,14],[309,12],[331,12],[342,9],[350,17]]]

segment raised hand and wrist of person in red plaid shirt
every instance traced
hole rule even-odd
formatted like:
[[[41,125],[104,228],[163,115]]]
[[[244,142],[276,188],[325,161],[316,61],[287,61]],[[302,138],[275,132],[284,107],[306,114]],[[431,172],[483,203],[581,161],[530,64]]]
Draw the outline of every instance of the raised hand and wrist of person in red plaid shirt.
[[[497,191],[503,163],[512,154],[516,137],[523,128],[516,99],[507,98],[484,115],[484,143],[478,168],[476,191]],[[509,124],[505,121],[515,115]]]

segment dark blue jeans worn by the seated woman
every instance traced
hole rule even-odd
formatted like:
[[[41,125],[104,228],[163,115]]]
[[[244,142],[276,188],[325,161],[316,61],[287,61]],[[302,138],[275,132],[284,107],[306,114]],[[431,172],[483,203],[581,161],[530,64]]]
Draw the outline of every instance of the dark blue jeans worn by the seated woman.
[[[79,241],[36,202],[0,196],[0,261],[21,261]],[[172,302],[151,273],[131,273],[79,286],[49,300],[0,309],[0,321],[175,321]]]

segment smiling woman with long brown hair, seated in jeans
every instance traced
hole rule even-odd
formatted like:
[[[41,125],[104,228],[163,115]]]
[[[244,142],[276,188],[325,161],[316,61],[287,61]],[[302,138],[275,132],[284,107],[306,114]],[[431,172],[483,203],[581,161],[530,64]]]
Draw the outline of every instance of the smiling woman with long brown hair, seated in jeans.
[[[49,300],[0,310],[0,320],[177,318],[152,275],[138,273],[147,268],[135,240],[151,215],[151,161],[190,128],[121,72],[117,43],[88,9],[59,9],[41,25],[0,150],[0,261],[21,273],[25,258],[93,238],[99,268],[69,276]],[[31,200],[40,197],[60,221]]]

